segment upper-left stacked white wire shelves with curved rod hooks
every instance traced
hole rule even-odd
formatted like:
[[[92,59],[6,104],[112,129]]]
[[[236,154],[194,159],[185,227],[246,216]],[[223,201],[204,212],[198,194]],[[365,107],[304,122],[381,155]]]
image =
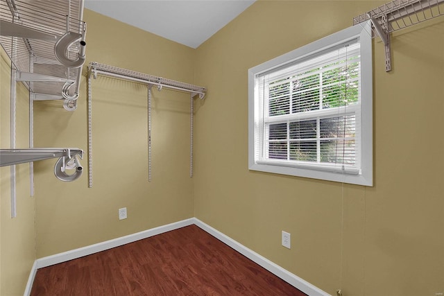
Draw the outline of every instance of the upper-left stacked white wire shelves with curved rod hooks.
[[[85,62],[83,0],[1,0],[0,43],[35,100],[76,110]]]

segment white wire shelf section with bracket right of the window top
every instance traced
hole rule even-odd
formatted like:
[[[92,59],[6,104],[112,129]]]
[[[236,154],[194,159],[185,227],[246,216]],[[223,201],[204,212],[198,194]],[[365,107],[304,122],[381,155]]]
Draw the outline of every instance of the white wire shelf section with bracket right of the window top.
[[[391,71],[390,33],[444,15],[444,0],[394,0],[353,18],[372,23],[372,35],[384,42],[386,71]]]

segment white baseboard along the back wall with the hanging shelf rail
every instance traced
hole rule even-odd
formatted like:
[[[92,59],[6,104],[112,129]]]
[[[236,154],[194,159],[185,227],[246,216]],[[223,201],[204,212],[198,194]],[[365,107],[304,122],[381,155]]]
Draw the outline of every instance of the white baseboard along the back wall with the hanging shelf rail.
[[[110,241],[104,241],[102,243],[96,243],[94,245],[87,245],[86,247],[79,247],[75,250],[70,250],[67,252],[62,252],[59,254],[54,254],[51,256],[46,256],[37,259],[37,268],[44,268],[46,266],[62,263],[72,259],[77,259],[83,256],[94,254],[97,252],[112,249],[113,247],[119,247],[121,245],[126,245],[127,243],[133,243],[150,236],[155,236],[157,234],[163,234],[164,232],[169,232],[174,229],[189,226],[194,224],[194,218],[189,218],[186,220],[178,221],[176,223],[171,223],[163,225],[160,227],[155,227],[152,229],[144,230],[143,232],[137,232],[135,234],[129,234],[128,236],[122,236],[119,238],[114,238]]]

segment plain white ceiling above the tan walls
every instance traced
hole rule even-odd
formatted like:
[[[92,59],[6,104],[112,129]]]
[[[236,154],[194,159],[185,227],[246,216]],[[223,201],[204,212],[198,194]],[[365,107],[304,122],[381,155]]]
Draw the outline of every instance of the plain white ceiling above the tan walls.
[[[85,0],[85,8],[196,49],[255,0]]]

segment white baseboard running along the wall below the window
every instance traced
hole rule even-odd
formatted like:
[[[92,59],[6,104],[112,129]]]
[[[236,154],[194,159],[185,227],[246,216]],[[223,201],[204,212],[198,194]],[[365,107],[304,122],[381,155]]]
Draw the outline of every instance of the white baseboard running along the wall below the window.
[[[273,275],[280,277],[284,281],[287,281],[287,283],[291,284],[291,286],[294,286],[295,288],[298,288],[303,293],[310,296],[330,296],[330,294],[328,294],[327,292],[321,290],[316,286],[313,286],[308,281],[301,279],[288,270],[266,259],[264,256],[257,254],[255,251],[248,249],[248,247],[246,247],[245,245],[234,241],[234,239],[226,236],[222,232],[219,232],[219,230],[214,229],[210,225],[203,223],[198,218],[194,218],[194,224],[200,229],[205,230],[205,232],[219,239],[219,241],[221,241],[222,243],[225,243],[225,245],[228,245],[237,252],[243,254],[251,261],[254,261],[255,263],[261,265],[263,268],[273,273]]]

